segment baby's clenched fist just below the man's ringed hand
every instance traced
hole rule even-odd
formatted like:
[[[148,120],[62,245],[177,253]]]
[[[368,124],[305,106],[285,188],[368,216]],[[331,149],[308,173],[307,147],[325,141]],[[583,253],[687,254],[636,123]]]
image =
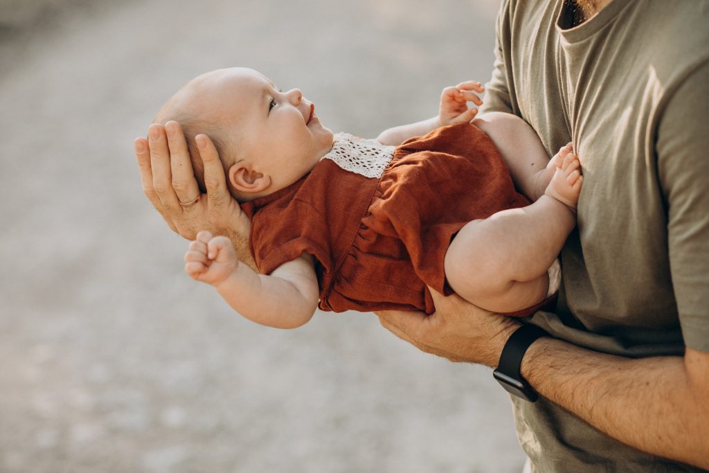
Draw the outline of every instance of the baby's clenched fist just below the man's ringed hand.
[[[223,236],[212,237],[208,231],[197,233],[184,255],[184,271],[197,281],[218,286],[239,265],[234,246]]]

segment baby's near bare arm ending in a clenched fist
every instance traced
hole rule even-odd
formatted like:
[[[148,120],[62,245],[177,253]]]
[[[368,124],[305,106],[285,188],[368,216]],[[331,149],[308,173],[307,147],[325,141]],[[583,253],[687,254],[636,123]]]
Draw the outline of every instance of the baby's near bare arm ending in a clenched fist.
[[[306,253],[269,275],[242,264],[225,237],[201,231],[184,255],[185,272],[212,284],[242,316],[276,328],[296,328],[310,321],[318,306],[318,279]]]

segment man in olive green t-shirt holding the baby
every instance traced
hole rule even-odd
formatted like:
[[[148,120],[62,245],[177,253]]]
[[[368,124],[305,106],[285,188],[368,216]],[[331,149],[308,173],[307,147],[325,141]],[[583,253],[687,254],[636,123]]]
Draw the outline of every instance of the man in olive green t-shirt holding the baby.
[[[422,350],[498,367],[537,471],[709,469],[708,20],[704,0],[503,1],[483,111],[522,117],[549,155],[573,141],[584,167],[557,307],[524,329],[456,296],[379,314]],[[177,123],[149,136],[143,187],[172,228],[247,248],[211,141],[194,203]]]

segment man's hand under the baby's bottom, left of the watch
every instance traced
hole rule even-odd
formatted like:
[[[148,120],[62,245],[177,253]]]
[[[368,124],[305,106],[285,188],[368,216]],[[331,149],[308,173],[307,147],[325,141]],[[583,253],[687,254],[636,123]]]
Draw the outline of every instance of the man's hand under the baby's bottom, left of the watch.
[[[381,311],[379,322],[419,350],[454,362],[496,367],[507,339],[519,324],[478,308],[453,294],[445,297],[430,287],[436,311]]]

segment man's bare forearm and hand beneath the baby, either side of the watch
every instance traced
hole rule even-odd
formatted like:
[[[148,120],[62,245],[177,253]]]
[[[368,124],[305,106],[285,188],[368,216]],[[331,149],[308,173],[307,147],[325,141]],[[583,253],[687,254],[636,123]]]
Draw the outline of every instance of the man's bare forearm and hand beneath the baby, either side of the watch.
[[[379,312],[420,350],[496,367],[519,324],[431,289],[436,312]],[[522,374],[542,396],[638,450],[709,468],[709,353],[629,360],[540,338]]]

